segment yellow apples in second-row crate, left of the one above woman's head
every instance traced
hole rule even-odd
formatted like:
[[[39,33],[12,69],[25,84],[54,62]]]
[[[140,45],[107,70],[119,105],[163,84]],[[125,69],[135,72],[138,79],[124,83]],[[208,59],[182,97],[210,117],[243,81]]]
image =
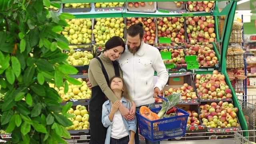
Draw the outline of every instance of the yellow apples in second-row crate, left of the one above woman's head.
[[[92,37],[92,20],[90,18],[66,20],[70,25],[64,28],[62,34],[70,44],[90,44]]]

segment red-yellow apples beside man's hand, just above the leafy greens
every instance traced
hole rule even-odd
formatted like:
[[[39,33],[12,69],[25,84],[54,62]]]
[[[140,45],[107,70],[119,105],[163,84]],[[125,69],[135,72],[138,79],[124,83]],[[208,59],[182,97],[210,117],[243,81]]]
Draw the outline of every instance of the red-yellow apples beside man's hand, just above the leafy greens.
[[[196,92],[194,91],[193,86],[190,86],[187,83],[184,83],[183,86],[181,86],[180,88],[169,88],[169,90],[164,90],[165,96],[168,96],[176,92],[181,93],[182,100],[198,98]]]

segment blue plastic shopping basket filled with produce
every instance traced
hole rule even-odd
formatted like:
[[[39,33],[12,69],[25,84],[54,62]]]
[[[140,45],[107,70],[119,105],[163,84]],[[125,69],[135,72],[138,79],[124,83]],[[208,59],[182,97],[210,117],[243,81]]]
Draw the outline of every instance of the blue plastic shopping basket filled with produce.
[[[168,99],[163,98],[162,96],[159,97],[170,104]],[[161,108],[162,107],[153,108],[150,110],[157,114]],[[178,116],[176,114],[176,116],[153,121],[142,116],[140,112],[136,112],[140,134],[152,142],[184,136],[189,114],[178,107],[176,108],[177,114],[183,113],[184,115]]]

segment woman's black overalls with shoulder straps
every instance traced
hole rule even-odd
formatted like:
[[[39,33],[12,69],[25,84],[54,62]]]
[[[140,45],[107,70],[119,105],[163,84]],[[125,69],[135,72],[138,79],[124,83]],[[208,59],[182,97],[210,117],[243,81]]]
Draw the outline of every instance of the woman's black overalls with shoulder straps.
[[[109,83],[108,73],[100,58],[96,57],[101,64],[102,72]],[[112,62],[115,75],[120,76],[118,62]],[[107,128],[102,124],[102,105],[106,101],[106,96],[100,89],[100,86],[92,87],[92,96],[89,104],[89,122],[90,122],[90,144],[104,144],[106,139]]]

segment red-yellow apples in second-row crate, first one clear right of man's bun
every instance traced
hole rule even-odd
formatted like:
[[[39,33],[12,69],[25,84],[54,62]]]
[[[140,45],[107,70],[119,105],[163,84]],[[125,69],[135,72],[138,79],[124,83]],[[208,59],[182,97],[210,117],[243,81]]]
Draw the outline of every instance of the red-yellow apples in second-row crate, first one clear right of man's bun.
[[[171,42],[185,42],[184,17],[158,17],[158,38],[171,38]]]

